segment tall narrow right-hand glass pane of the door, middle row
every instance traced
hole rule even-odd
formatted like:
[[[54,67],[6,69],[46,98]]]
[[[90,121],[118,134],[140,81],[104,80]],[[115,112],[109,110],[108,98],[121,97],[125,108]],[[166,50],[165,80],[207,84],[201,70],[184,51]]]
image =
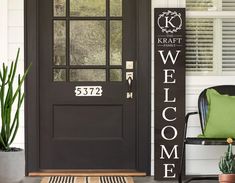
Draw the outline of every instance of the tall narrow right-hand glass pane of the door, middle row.
[[[110,65],[122,65],[122,21],[110,21]]]

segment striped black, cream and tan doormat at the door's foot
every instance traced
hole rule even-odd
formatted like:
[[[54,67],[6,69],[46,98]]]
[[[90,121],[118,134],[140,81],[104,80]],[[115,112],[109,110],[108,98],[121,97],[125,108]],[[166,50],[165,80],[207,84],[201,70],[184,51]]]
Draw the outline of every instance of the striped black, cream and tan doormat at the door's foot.
[[[44,177],[41,183],[134,183],[132,177]]]

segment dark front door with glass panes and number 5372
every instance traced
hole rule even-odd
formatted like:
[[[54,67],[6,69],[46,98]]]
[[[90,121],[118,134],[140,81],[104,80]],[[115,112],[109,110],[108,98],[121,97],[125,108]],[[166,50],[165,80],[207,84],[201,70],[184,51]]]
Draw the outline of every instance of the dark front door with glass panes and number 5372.
[[[137,39],[137,5],[136,0],[38,1],[38,146],[33,145],[38,157],[28,163],[29,172],[147,172],[150,60],[138,60],[138,41],[148,40]],[[138,80],[146,82],[144,89]],[[149,96],[140,99],[143,91]]]

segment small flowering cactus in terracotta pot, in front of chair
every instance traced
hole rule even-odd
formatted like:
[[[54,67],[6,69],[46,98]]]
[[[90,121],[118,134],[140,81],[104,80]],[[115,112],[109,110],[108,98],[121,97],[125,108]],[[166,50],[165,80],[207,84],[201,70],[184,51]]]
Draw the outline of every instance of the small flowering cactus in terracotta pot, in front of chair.
[[[225,156],[221,157],[219,162],[219,169],[222,172],[222,174],[219,175],[219,182],[235,183],[235,155],[232,150],[233,139],[228,138],[227,143],[227,152]]]

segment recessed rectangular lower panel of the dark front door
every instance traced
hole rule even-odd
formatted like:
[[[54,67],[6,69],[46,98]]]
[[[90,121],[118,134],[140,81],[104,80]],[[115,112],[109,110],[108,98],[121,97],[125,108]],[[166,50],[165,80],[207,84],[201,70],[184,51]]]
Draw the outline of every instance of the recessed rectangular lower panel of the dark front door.
[[[123,138],[123,124],[120,123],[123,118],[121,105],[56,105],[53,106],[53,115],[55,139]],[[77,119],[81,119],[79,123]]]

